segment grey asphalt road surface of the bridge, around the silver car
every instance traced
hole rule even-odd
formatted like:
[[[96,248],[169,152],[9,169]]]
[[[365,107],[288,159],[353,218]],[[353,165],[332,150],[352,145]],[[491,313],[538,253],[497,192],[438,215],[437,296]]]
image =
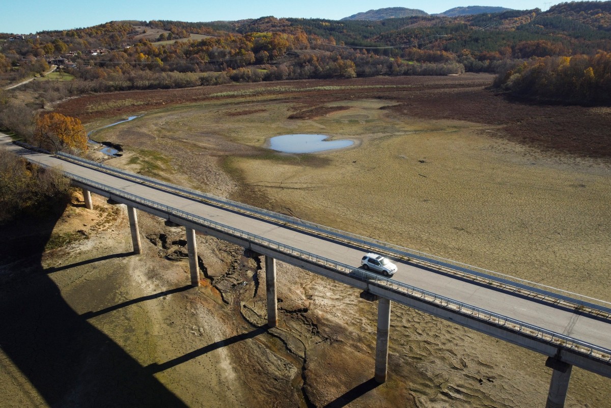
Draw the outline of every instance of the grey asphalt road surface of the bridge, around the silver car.
[[[2,145],[12,150],[19,149],[11,147],[5,142]],[[53,156],[27,153],[27,158],[48,166],[60,167],[66,172],[144,199],[154,200],[163,205],[171,206],[220,224],[229,225],[230,227],[314,253],[324,258],[353,265],[354,267],[360,266],[360,258],[366,251],[358,243],[348,245],[342,242],[329,241],[329,239],[319,238],[310,233],[282,227],[265,220],[254,219],[234,211],[227,211],[170,194],[169,192],[160,191],[159,189],[125,180],[124,178],[114,177],[95,169],[54,158]],[[518,319],[519,321],[561,333],[602,348],[611,349],[611,322],[609,320],[596,319],[576,310],[554,307],[554,305],[536,302],[533,299],[507,293],[497,288],[458,280],[451,276],[418,268],[402,261],[397,261],[396,263],[398,271],[393,279],[398,282],[404,282],[459,302]]]

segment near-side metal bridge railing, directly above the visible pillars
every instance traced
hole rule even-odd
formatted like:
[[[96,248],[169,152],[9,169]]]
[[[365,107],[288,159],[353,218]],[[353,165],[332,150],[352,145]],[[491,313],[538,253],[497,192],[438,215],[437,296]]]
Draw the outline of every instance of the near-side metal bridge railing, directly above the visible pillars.
[[[246,239],[250,242],[256,242],[257,244],[268,247],[269,249],[273,249],[285,253],[287,255],[291,255],[293,257],[298,257],[307,260],[310,263],[332,269],[341,274],[358,277],[362,280],[367,280],[368,282],[374,283],[375,285],[383,286],[389,288],[390,290],[406,294],[407,296],[421,299],[422,301],[428,302],[430,304],[435,304],[437,305],[437,307],[444,308],[446,310],[451,310],[454,313],[459,313],[464,316],[470,316],[470,318],[478,319],[481,321],[487,321],[496,326],[502,326],[505,329],[513,330],[514,332],[519,332],[527,337],[537,338],[538,340],[543,341],[544,343],[569,348],[575,352],[579,352],[580,354],[589,355],[594,359],[611,362],[611,350],[609,349],[602,348],[594,344],[590,344],[585,341],[581,341],[579,339],[563,335],[561,333],[552,332],[551,330],[546,330],[538,326],[533,326],[532,324],[512,319],[507,316],[499,315],[498,313],[494,313],[492,311],[478,308],[463,302],[455,301],[454,299],[450,299],[448,297],[439,296],[438,294],[416,288],[415,286],[410,286],[406,283],[387,279],[385,277],[382,277],[381,275],[373,274],[371,272],[364,271],[360,268],[354,268],[353,266],[339,263],[328,258],[320,257],[313,253],[296,249],[295,247],[287,246],[285,244],[281,244],[280,242],[272,241],[271,239],[263,238],[262,236],[238,230],[237,228],[229,227],[224,224],[219,224],[218,222],[214,222],[212,220],[208,220],[203,217],[187,213],[185,211],[182,211],[181,209],[163,205],[152,200],[144,199],[143,197],[139,197],[138,195],[111,188],[104,184],[97,183],[95,181],[80,177],[78,175],[66,171],[64,171],[64,173],[72,180],[78,181],[79,183],[82,183],[86,186],[90,186],[92,188],[100,189],[101,191],[109,192],[110,194],[115,195],[116,197],[121,197],[130,202],[140,203],[141,205],[147,206],[148,208],[157,209],[163,211],[164,213],[181,217],[182,219],[189,220],[198,225],[202,225],[203,227],[209,227],[217,231],[222,231],[237,238]]]

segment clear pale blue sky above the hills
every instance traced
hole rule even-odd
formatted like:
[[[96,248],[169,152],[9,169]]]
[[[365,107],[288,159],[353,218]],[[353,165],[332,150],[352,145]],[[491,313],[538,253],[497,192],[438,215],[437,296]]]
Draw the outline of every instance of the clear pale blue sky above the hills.
[[[466,5],[547,10],[560,1],[545,0],[0,0],[0,32],[29,34],[45,30],[90,27],[117,20],[216,21],[280,17],[339,20],[386,7],[441,13]]]

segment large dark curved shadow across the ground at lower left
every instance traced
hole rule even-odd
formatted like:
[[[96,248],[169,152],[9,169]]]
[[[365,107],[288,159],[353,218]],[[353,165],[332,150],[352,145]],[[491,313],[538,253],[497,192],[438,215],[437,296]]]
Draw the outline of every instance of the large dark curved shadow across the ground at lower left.
[[[20,406],[19,396],[40,395],[51,407],[186,407],[87,316],[79,316],[42,268],[45,244],[64,208],[54,209],[52,219],[28,217],[2,225],[2,238],[9,244],[0,247],[0,376],[7,381],[2,388],[16,396],[8,401],[3,395],[0,406]],[[185,288],[174,293],[180,290]],[[157,296],[163,293],[150,298]],[[34,399],[29,403],[37,404]]]

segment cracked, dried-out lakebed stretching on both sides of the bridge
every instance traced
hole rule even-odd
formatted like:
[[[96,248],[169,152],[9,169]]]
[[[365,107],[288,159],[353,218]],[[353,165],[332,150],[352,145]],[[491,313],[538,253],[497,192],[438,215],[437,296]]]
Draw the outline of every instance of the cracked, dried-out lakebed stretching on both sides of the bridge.
[[[121,98],[141,102],[125,113],[144,116],[97,133],[123,145],[111,166],[608,296],[608,162],[514,137],[519,121],[525,135],[536,126],[556,134],[530,119],[536,109],[555,123],[585,108],[529,112],[489,95],[489,76],[390,80],[117,94],[112,106],[100,95],[58,109],[92,107],[94,128],[116,122],[112,112],[128,107]],[[323,85],[331,81],[307,84]],[[604,109],[587,112],[596,119],[575,131],[609,120]],[[359,144],[321,155],[263,148],[289,132]],[[8,406],[544,406],[543,356],[394,304],[389,381],[376,386],[376,304],[357,291],[277,263],[279,327],[266,329],[261,260],[197,236],[202,286],[190,288],[181,228],[139,213],[144,252],[131,255],[124,210],[94,199],[95,211],[77,192],[57,222],[3,227],[13,255],[34,242],[28,231],[46,240],[78,231],[71,244],[38,245],[29,263],[2,258]],[[610,391],[609,379],[575,369],[567,406],[611,407]]]

